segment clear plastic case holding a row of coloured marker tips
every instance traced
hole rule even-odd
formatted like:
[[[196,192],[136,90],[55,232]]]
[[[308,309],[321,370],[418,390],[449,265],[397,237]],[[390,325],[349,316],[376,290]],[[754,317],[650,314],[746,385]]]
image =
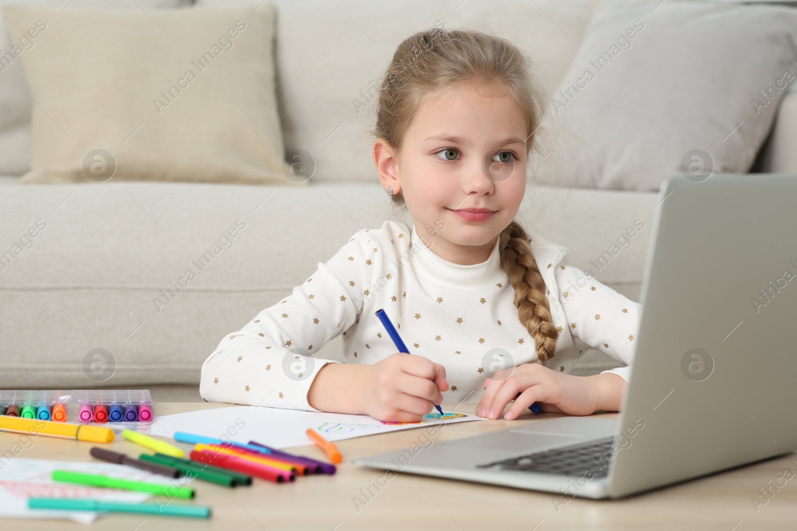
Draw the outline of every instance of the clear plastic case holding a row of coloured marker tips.
[[[147,427],[155,420],[147,389],[0,391],[0,415],[118,430]]]

